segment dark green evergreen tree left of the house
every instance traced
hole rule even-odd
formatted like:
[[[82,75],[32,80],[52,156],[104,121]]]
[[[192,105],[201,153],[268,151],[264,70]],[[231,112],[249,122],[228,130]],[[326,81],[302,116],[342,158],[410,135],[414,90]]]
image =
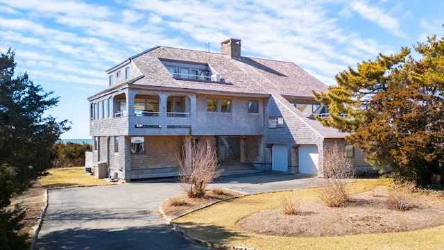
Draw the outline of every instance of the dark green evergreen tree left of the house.
[[[15,77],[14,56],[11,49],[0,53],[0,249],[26,249],[26,235],[17,235],[24,211],[6,206],[50,167],[51,147],[70,128],[66,120],[44,117],[58,98],[49,98],[53,93],[26,73]]]

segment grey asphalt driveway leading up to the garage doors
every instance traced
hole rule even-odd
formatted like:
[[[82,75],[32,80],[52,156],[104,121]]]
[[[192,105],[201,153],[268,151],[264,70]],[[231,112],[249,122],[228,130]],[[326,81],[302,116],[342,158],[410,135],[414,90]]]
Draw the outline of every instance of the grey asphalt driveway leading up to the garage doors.
[[[247,194],[323,185],[319,178],[275,172],[222,176],[211,186]],[[191,244],[157,213],[183,194],[174,180],[49,190],[35,249],[208,249]]]

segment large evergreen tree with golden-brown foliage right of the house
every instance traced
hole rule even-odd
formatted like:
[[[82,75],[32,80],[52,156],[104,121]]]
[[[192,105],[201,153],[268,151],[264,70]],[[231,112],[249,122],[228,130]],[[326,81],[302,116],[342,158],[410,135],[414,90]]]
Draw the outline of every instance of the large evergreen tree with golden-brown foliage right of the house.
[[[379,56],[336,76],[337,86],[314,93],[329,106],[327,126],[352,134],[346,140],[366,151],[374,166],[390,166],[401,176],[428,182],[444,176],[444,38]],[[443,179],[442,179],[443,180]]]

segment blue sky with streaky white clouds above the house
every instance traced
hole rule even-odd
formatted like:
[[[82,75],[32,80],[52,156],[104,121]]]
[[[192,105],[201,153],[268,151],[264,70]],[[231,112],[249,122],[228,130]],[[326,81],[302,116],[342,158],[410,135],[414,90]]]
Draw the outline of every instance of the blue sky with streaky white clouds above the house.
[[[0,51],[15,49],[16,73],[60,97],[48,114],[69,119],[64,139],[89,138],[87,97],[105,90],[105,70],[162,45],[296,63],[327,85],[379,52],[443,36],[442,0],[0,0]]]

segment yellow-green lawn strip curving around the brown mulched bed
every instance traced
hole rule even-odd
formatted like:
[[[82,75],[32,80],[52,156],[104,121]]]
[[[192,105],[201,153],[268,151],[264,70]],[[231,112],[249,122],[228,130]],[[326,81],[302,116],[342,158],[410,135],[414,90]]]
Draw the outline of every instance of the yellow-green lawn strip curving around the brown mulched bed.
[[[380,179],[357,179],[350,186],[352,193],[364,192]],[[293,190],[303,201],[318,200],[318,189]],[[404,233],[348,235],[322,238],[291,238],[257,235],[239,231],[236,222],[248,215],[278,208],[282,192],[255,194],[214,206],[175,219],[173,222],[194,238],[227,246],[255,247],[257,249],[443,249],[444,226]],[[425,218],[427,219],[427,218]]]

